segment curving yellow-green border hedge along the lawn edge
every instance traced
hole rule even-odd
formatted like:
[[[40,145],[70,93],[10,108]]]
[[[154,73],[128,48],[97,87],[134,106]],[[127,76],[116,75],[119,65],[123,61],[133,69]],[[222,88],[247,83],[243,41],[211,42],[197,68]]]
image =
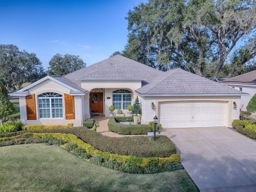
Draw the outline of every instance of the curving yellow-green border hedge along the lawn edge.
[[[77,145],[81,149],[76,149],[78,155],[84,153],[91,162],[116,168],[123,172],[131,173],[154,173],[171,171],[182,168],[179,162],[181,157],[178,154],[173,154],[170,157],[134,157],[126,155],[117,155],[108,152],[102,152],[90,144],[83,142],[74,134],[60,134],[60,133],[25,133],[20,136],[13,136],[10,138],[0,138],[0,145],[12,145],[29,143],[32,141],[49,142],[55,141],[56,143],[71,143]],[[67,145],[64,145],[67,147]],[[73,147],[67,147],[72,150]]]

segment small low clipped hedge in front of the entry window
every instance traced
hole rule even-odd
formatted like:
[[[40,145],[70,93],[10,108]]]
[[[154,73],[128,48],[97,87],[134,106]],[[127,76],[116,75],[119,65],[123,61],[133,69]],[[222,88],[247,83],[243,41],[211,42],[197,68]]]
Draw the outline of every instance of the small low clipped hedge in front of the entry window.
[[[139,135],[148,134],[151,128],[148,125],[123,125],[117,123],[114,117],[110,117],[108,120],[108,130],[123,135]]]

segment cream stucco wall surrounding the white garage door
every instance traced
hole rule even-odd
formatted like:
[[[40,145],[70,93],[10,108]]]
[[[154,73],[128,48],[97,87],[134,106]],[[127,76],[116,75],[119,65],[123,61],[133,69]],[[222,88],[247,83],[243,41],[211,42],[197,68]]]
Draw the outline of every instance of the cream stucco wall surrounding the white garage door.
[[[140,102],[142,106],[141,122],[147,124],[153,121],[156,115],[160,119],[160,102],[174,102],[174,101],[225,101],[226,106],[226,126],[231,126],[234,119],[239,119],[240,115],[240,96],[179,96],[179,97],[141,97]],[[156,106],[156,110],[152,109],[152,102]],[[233,102],[236,102],[237,109],[233,109]]]

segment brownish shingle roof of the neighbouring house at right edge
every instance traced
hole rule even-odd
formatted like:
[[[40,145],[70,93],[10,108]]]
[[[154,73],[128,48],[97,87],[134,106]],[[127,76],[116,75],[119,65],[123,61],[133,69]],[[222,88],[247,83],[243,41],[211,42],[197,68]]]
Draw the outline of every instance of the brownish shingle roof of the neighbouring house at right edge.
[[[236,77],[231,77],[229,79],[223,80],[219,83],[225,84],[241,84],[241,85],[256,85],[256,70],[238,75]]]

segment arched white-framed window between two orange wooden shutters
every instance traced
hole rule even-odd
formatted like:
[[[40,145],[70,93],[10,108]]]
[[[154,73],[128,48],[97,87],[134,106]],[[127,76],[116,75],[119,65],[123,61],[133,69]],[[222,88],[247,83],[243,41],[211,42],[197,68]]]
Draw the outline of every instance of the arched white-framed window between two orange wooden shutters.
[[[45,92],[38,96],[39,118],[62,118],[62,95],[55,92]]]

